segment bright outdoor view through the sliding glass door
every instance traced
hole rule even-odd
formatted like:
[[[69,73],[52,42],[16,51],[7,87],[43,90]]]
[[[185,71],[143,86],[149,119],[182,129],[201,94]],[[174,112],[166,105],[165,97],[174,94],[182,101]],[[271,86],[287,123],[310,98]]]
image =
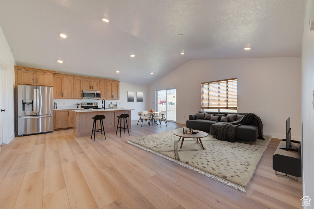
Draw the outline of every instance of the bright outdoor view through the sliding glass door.
[[[176,121],[176,89],[156,90],[156,111],[166,111],[166,120]]]

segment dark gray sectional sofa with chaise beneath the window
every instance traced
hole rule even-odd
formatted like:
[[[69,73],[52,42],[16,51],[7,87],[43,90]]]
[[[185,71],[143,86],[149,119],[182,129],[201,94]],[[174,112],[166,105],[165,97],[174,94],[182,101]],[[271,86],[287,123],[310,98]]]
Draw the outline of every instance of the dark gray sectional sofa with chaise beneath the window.
[[[198,111],[203,113],[204,111]],[[245,115],[246,113],[228,113],[228,112],[206,112],[214,114],[238,114]],[[221,124],[226,122],[212,121],[212,120],[202,120],[196,119],[195,115],[190,115],[189,120],[187,120],[187,128],[192,128],[196,130],[202,130],[205,132],[210,132],[211,135],[214,134],[214,127],[216,124]],[[250,115],[249,120],[245,125],[239,125],[236,128],[235,140],[246,140],[252,144],[253,141],[256,141],[258,137],[258,122],[252,115]]]

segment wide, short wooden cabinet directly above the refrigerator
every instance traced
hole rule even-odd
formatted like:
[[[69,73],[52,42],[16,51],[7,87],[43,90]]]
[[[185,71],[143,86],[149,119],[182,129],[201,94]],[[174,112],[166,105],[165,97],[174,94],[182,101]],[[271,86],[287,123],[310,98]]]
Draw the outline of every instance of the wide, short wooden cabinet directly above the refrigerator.
[[[15,71],[15,76],[18,78],[18,84],[41,86],[53,85],[53,73],[55,71],[24,68],[19,66],[15,66]]]

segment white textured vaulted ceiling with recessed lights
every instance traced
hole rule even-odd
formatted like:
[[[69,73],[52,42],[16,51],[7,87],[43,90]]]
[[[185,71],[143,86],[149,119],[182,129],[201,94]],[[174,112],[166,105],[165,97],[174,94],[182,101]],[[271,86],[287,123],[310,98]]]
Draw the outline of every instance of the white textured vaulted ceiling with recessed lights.
[[[0,26],[17,65],[150,84],[191,59],[300,56],[305,6],[306,0],[1,0]]]

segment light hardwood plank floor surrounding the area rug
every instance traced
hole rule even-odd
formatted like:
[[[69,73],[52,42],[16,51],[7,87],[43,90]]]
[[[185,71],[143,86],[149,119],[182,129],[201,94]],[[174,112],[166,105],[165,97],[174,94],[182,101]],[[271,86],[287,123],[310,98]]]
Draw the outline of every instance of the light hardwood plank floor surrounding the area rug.
[[[275,176],[271,139],[246,193],[125,142],[181,128],[162,123],[75,138],[73,130],[15,137],[0,152],[0,208],[302,208],[302,183]]]

